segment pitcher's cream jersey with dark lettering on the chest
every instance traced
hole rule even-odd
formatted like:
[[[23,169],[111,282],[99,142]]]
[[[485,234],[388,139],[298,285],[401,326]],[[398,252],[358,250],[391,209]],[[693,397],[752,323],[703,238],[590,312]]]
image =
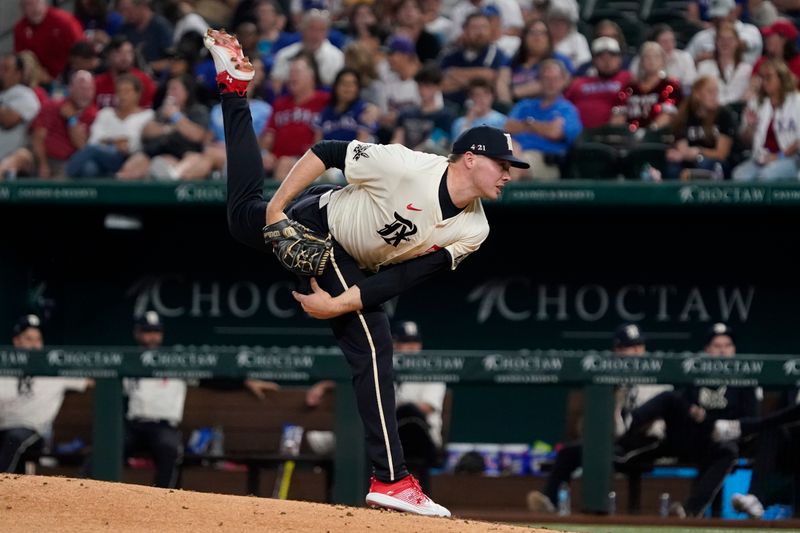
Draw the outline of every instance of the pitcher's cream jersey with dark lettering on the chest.
[[[441,248],[455,269],[486,240],[489,223],[480,199],[442,218],[439,184],[445,170],[442,156],[352,141],[344,169],[348,185],[321,200],[327,201],[331,235],[373,272]]]

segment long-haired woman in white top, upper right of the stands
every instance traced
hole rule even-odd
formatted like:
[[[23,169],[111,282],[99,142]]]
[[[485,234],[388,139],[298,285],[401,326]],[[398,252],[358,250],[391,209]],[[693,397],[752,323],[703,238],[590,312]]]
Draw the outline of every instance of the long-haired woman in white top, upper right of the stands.
[[[713,59],[697,65],[701,76],[713,76],[719,80],[720,105],[735,104],[746,99],[747,87],[753,67],[742,60],[744,43],[730,22],[722,22],[717,28],[716,47]]]

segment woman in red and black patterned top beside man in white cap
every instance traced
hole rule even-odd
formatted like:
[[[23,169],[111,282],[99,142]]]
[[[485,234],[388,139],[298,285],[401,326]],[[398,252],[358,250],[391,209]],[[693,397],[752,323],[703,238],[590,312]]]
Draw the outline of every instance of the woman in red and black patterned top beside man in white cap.
[[[667,76],[667,55],[660,44],[644,43],[639,57],[639,69],[634,73],[636,79],[620,91],[611,123],[627,123],[631,131],[667,128],[683,99],[681,84]]]

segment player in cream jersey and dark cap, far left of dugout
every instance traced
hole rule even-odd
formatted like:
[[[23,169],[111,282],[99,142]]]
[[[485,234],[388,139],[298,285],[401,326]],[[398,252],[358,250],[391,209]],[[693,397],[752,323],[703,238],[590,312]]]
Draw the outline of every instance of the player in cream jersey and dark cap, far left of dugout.
[[[21,317],[13,328],[14,348],[44,347],[41,321]],[[55,377],[0,377],[0,472],[16,472],[26,451],[41,449],[67,390],[84,391],[89,380]]]

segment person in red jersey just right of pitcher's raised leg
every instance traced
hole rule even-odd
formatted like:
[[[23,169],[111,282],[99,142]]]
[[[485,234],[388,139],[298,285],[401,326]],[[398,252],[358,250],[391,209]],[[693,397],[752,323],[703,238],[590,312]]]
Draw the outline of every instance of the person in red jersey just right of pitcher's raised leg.
[[[289,94],[275,100],[267,123],[263,147],[272,154],[273,177],[283,180],[289,170],[315,141],[314,123],[328,105],[330,95],[319,87],[317,62],[311,52],[302,51],[289,65],[286,87]]]

